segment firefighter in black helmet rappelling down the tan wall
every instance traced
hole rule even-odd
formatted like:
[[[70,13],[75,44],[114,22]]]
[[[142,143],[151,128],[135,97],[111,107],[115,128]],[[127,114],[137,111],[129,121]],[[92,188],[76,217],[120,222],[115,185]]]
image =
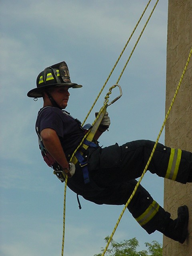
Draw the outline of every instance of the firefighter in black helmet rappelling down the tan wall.
[[[88,149],[79,148],[74,164],[70,158],[78,147],[86,129],[73,118],[67,107],[70,88],[80,88],[72,83],[66,62],[45,68],[37,77],[36,88],[27,94],[43,98],[43,108],[38,112],[36,132],[42,156],[48,166],[67,174],[68,187],[76,194],[96,204],[126,204],[154,147],[150,140],[136,140],[122,146],[117,143],[100,147],[98,138],[110,126],[106,112]],[[77,103],[80,108],[80,102]],[[84,141],[84,143],[87,143]],[[78,154],[81,152],[81,154]],[[192,182],[192,153],[158,143],[148,170],[160,177],[186,184]],[[59,176],[59,175],[58,175]],[[184,243],[188,235],[188,207],[178,208],[178,217],[170,218],[141,185],[128,205],[128,210],[148,234],[158,230],[165,236]]]

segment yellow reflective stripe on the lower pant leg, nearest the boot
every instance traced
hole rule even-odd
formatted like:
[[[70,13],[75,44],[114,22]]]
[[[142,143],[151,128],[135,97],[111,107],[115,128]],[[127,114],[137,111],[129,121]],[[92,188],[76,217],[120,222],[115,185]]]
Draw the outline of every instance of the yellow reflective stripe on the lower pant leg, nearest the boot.
[[[144,213],[142,213],[136,221],[141,225],[144,226],[147,224],[158,212],[159,204],[156,201],[153,201],[152,204],[146,209]]]

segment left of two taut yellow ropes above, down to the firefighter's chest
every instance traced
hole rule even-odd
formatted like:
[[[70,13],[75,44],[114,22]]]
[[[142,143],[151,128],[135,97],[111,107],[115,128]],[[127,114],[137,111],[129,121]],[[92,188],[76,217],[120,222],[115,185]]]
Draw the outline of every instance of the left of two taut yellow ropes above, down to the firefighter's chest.
[[[131,38],[132,38],[132,36],[133,36],[133,34],[134,34],[134,32],[135,32],[136,28],[138,27],[138,24],[140,23],[140,21],[141,21],[142,17],[144,16],[144,13],[146,12],[146,9],[148,8],[148,5],[150,4],[150,2],[151,2],[151,0],[149,0],[149,2],[148,2],[148,4],[146,5],[146,7],[145,7],[144,11],[142,12],[142,15],[140,16],[140,18],[139,18],[139,20],[138,20],[138,22],[137,22],[136,26],[134,27],[133,32],[131,33],[131,35],[130,35],[129,39],[127,40],[127,42],[126,42],[126,44],[125,44],[125,46],[124,46],[124,48],[123,48],[122,52],[120,53],[120,56],[118,57],[118,59],[117,59],[116,63],[114,64],[114,66],[113,66],[113,68],[112,68],[112,70],[111,70],[111,72],[110,72],[110,74],[109,74],[108,78],[106,79],[106,81],[105,81],[104,85],[102,86],[102,88],[101,88],[101,90],[100,90],[100,92],[99,92],[98,96],[96,97],[96,99],[95,99],[95,101],[94,101],[94,103],[93,103],[92,107],[90,108],[90,110],[89,110],[88,114],[86,115],[85,120],[82,122],[82,125],[84,125],[84,123],[86,122],[86,120],[87,120],[88,116],[90,115],[90,112],[91,112],[91,111],[92,111],[92,109],[94,108],[94,106],[95,106],[95,104],[96,104],[96,102],[97,102],[98,98],[100,97],[100,95],[101,95],[102,91],[104,90],[104,88],[105,88],[105,86],[106,86],[106,84],[107,84],[107,82],[108,82],[109,78],[111,77],[111,75],[112,75],[112,73],[113,73],[114,69],[116,68],[116,66],[117,66],[117,64],[118,64],[118,62],[119,62],[119,60],[120,60],[120,58],[122,57],[122,54],[124,53],[124,51],[125,51],[125,49],[126,49],[126,47],[127,47],[128,43],[130,42],[130,40],[131,40]],[[140,39],[140,38],[139,38],[139,39]],[[133,50],[133,51],[134,51],[134,50]],[[132,51],[132,52],[133,52],[133,51]],[[117,83],[117,84],[118,84],[118,83]]]

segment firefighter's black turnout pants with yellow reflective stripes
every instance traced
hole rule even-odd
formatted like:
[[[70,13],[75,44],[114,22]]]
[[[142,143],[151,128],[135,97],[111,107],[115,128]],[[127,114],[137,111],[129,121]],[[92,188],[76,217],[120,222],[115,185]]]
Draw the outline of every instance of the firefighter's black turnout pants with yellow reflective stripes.
[[[126,204],[136,186],[135,179],[142,175],[153,147],[152,141],[136,140],[122,146],[89,148],[86,157],[91,182],[84,184],[82,170],[76,164],[76,172],[68,179],[68,186],[96,204]],[[158,143],[148,170],[184,184],[191,182],[192,153]],[[149,234],[160,229],[170,217],[141,185],[128,210]]]

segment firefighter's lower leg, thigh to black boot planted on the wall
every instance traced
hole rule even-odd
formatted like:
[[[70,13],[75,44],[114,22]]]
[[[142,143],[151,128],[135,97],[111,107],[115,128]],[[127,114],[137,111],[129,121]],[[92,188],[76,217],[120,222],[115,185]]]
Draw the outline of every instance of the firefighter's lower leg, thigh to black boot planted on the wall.
[[[123,205],[130,198],[136,184],[136,180],[116,183],[96,196],[84,196],[84,198],[96,204]],[[178,208],[178,218],[172,220],[170,213],[166,212],[154,201],[149,192],[139,185],[127,208],[148,234],[158,230],[180,243],[186,240],[188,234],[188,208],[186,206]]]

